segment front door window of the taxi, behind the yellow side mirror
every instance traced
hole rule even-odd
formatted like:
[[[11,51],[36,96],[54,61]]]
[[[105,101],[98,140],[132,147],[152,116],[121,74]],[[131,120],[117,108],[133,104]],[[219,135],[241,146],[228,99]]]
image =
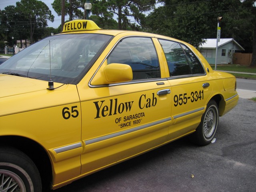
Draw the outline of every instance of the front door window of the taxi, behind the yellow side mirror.
[[[128,64],[133,80],[160,78],[160,67],[151,38],[130,37],[119,42],[107,58],[108,64]]]

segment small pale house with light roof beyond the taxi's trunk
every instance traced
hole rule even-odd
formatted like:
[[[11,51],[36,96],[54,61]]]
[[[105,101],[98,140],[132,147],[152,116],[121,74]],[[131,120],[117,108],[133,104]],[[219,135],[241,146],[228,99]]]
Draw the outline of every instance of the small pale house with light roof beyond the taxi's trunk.
[[[198,48],[209,64],[215,64],[216,39],[206,39],[206,42]],[[228,64],[233,62],[233,53],[244,50],[234,39],[220,39],[218,42],[217,64]]]

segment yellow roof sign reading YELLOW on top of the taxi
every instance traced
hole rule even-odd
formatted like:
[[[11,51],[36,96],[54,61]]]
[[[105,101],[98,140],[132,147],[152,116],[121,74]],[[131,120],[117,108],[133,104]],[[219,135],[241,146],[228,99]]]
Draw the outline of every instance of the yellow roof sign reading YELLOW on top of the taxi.
[[[96,23],[92,20],[83,20],[76,19],[69,22],[66,22],[63,26],[62,33],[64,32],[73,32],[73,31],[87,31],[87,30],[98,30],[99,28]]]

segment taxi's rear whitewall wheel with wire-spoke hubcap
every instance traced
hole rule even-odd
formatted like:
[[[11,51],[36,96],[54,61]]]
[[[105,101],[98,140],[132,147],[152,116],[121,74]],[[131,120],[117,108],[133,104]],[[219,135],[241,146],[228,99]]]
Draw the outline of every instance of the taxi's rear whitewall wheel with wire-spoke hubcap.
[[[209,144],[216,133],[219,122],[219,110],[216,102],[210,100],[206,111],[202,115],[201,122],[196,128],[196,132],[191,135],[192,141],[201,146]]]

